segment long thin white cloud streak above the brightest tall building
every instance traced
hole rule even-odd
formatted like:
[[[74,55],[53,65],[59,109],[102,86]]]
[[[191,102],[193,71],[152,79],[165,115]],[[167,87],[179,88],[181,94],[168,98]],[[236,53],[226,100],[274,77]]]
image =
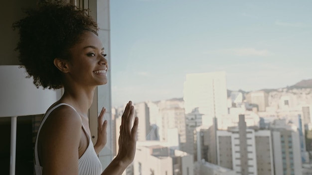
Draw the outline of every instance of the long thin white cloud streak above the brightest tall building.
[[[219,49],[215,51],[205,52],[206,54],[226,54],[235,56],[268,56],[270,52],[268,50],[257,50],[255,48],[235,48],[235,49]]]

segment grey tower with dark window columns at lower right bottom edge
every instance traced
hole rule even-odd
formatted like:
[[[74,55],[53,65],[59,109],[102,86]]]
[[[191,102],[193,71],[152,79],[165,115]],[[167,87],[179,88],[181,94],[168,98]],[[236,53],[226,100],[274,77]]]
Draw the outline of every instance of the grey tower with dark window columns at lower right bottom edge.
[[[302,175],[300,137],[297,130],[272,131],[276,175]]]

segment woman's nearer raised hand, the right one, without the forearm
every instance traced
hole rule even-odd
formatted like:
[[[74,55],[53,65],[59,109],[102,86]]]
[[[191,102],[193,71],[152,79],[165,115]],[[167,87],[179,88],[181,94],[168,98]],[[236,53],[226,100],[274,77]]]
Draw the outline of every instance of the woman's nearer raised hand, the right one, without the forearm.
[[[136,153],[139,118],[135,118],[134,125],[131,128],[133,115],[134,106],[132,105],[132,101],[129,101],[122,116],[120,136],[118,140],[119,151],[116,157],[116,159],[118,159],[123,166],[126,166],[126,168],[132,163]]]

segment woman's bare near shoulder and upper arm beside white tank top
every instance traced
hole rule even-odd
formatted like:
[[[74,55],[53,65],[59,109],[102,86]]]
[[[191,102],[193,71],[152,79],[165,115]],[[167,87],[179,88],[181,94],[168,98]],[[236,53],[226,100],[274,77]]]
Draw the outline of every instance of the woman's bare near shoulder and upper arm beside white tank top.
[[[78,175],[82,120],[69,106],[51,112],[40,131],[43,175]]]

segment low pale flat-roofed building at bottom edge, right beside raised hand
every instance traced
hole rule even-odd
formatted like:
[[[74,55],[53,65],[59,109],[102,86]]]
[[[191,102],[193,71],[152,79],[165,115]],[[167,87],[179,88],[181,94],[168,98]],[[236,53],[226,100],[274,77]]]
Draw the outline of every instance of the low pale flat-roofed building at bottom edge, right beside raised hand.
[[[134,175],[194,175],[192,155],[159,145],[138,146],[133,164]]]

